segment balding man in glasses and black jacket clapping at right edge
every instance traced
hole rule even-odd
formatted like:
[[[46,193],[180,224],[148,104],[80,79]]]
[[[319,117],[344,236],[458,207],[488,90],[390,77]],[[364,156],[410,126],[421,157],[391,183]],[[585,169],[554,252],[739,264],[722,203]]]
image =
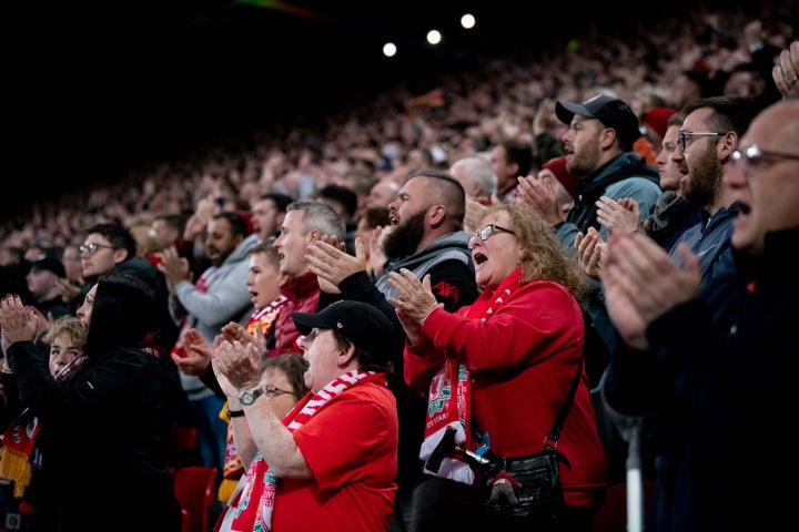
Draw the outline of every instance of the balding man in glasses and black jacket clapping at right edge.
[[[685,129],[725,131],[691,123]],[[680,267],[639,234],[611,235],[603,260],[623,338],[603,396],[618,413],[654,415],[659,436],[651,532],[779,530],[796,513],[791,490],[768,487],[797,466],[799,100],[766,108],[722,151],[738,209],[730,267],[702,280],[701,257],[687,246]],[[748,460],[758,448],[775,463]]]

